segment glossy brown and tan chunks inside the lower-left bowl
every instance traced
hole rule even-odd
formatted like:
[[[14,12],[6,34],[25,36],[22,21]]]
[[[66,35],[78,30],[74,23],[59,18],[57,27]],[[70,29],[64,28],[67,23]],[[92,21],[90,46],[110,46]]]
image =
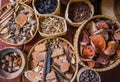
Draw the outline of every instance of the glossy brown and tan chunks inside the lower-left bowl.
[[[22,59],[16,52],[6,54],[0,61],[0,68],[6,72],[13,73],[20,69]]]

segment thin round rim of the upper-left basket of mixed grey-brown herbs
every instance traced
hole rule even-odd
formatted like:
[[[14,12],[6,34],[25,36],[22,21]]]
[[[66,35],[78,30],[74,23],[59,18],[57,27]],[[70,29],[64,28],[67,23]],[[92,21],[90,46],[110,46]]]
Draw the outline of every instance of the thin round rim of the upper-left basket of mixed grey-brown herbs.
[[[4,5],[0,10],[2,11],[2,9],[5,8],[5,7],[7,7],[8,5],[14,5],[14,4],[16,4],[16,3],[18,3],[18,4],[21,5],[21,6],[25,6],[25,7],[29,8],[31,11],[34,12],[34,10],[33,10],[30,6],[28,6],[28,5],[24,4],[24,3],[21,3],[21,2],[8,3],[8,4]],[[0,13],[1,13],[1,12],[0,12]],[[35,16],[35,20],[37,20],[37,16],[35,15],[35,13],[34,13],[34,16]],[[38,21],[37,21],[37,25],[36,25],[36,29],[35,29],[35,33],[34,33],[33,37],[30,38],[29,40],[25,41],[23,44],[10,43],[10,42],[4,40],[4,39],[2,38],[2,36],[0,36],[0,40],[3,41],[3,42],[5,42],[6,44],[9,44],[9,45],[14,45],[14,46],[24,45],[24,44],[29,43],[29,42],[35,37],[35,35],[36,35],[36,33],[37,33],[37,28],[38,28]]]

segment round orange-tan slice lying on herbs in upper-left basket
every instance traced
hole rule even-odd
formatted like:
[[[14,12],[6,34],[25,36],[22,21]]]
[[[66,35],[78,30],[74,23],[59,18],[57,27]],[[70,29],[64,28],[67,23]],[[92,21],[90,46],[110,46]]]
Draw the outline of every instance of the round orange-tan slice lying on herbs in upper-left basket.
[[[15,22],[22,27],[22,26],[25,25],[25,23],[27,22],[27,16],[26,16],[25,14],[19,14],[19,15],[15,18]]]

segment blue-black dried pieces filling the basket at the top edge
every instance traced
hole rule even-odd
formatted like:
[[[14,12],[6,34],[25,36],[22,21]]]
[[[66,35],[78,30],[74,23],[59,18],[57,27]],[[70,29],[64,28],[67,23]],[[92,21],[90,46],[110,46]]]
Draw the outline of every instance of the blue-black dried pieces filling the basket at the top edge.
[[[58,6],[57,0],[36,0],[35,7],[40,14],[49,14],[55,12]]]

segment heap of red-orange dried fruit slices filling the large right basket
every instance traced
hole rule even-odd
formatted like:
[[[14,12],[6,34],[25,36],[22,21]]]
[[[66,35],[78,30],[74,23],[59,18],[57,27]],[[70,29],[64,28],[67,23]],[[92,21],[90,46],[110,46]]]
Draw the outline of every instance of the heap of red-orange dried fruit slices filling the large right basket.
[[[119,26],[107,18],[94,18],[79,37],[80,59],[92,68],[104,68],[119,58]]]

